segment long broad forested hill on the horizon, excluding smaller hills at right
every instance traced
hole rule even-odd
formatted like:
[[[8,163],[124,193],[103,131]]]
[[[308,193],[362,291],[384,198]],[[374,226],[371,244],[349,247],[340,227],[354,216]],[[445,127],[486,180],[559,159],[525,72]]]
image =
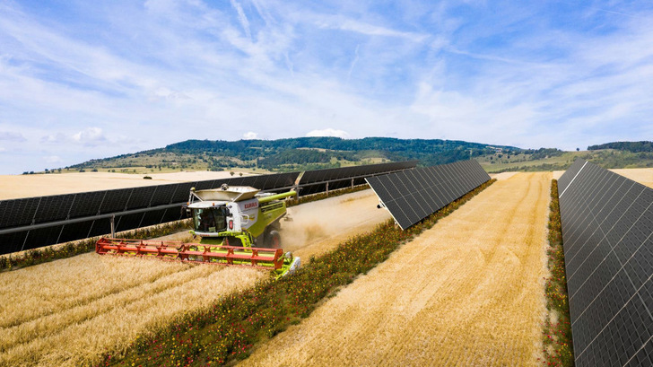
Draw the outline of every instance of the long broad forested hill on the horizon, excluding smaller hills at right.
[[[91,160],[75,170],[317,170],[354,164],[418,160],[420,165],[457,162],[494,153],[546,153],[516,147],[440,139],[298,137],[278,140],[187,140],[165,148]],[[544,152],[546,151],[546,152]],[[554,151],[554,150],[551,150]],[[133,170],[128,170],[133,169]]]

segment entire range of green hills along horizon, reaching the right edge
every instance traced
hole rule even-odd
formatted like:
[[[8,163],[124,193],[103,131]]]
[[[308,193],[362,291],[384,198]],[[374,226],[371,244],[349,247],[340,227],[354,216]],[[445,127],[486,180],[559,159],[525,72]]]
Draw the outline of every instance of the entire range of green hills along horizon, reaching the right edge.
[[[588,151],[520,149],[512,146],[439,139],[300,137],[279,140],[187,140],[164,148],[91,160],[62,171],[126,173],[178,170],[241,170],[257,173],[318,170],[358,164],[418,160],[430,166],[474,158],[491,173],[566,170],[577,158],[607,169],[653,167],[653,144],[618,142],[592,145]],[[58,171],[58,170],[57,170]]]

